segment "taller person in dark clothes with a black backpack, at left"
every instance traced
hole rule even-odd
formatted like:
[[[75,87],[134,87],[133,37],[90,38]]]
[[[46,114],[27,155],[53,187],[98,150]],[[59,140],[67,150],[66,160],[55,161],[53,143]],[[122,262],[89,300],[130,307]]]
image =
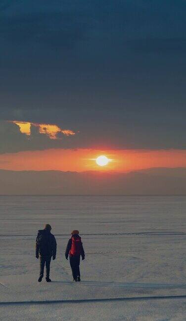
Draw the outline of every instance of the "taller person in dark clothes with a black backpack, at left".
[[[36,238],[36,258],[40,258],[40,277],[38,282],[42,281],[44,276],[44,267],[46,265],[46,281],[51,282],[49,278],[50,273],[50,261],[51,257],[55,260],[56,256],[56,240],[53,234],[50,233],[51,226],[45,225],[44,230],[38,231]]]

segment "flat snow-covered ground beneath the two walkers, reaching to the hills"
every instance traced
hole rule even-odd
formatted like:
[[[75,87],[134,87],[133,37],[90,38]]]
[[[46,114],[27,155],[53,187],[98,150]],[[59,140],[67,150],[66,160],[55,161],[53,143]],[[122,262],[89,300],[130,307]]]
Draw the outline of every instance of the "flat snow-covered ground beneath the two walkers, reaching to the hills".
[[[51,283],[38,283],[37,230],[52,225]],[[80,230],[72,282],[64,251]],[[186,197],[0,196],[0,320],[186,320]]]

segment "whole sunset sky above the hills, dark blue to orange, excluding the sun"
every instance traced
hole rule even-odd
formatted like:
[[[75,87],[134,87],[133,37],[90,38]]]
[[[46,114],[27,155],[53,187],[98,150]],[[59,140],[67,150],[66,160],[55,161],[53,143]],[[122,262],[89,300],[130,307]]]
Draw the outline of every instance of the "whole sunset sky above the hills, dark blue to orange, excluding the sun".
[[[0,168],[186,167],[185,10],[0,1]]]

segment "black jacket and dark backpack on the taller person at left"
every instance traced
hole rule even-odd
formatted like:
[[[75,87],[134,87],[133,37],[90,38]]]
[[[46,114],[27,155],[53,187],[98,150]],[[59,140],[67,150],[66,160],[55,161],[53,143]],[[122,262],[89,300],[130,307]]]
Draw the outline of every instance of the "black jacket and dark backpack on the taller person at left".
[[[47,229],[39,230],[36,238],[36,256],[56,256],[56,240]]]

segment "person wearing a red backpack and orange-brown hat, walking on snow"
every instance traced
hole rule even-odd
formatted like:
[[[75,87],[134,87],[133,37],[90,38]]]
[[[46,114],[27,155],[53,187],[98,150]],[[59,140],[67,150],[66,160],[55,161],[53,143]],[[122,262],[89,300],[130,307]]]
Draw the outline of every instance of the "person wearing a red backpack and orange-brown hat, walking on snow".
[[[68,255],[70,257],[70,266],[72,268],[73,281],[80,282],[80,256],[82,260],[85,260],[85,252],[81,237],[79,236],[78,230],[73,230],[71,232],[72,237],[68,241],[65,257],[68,260]]]

